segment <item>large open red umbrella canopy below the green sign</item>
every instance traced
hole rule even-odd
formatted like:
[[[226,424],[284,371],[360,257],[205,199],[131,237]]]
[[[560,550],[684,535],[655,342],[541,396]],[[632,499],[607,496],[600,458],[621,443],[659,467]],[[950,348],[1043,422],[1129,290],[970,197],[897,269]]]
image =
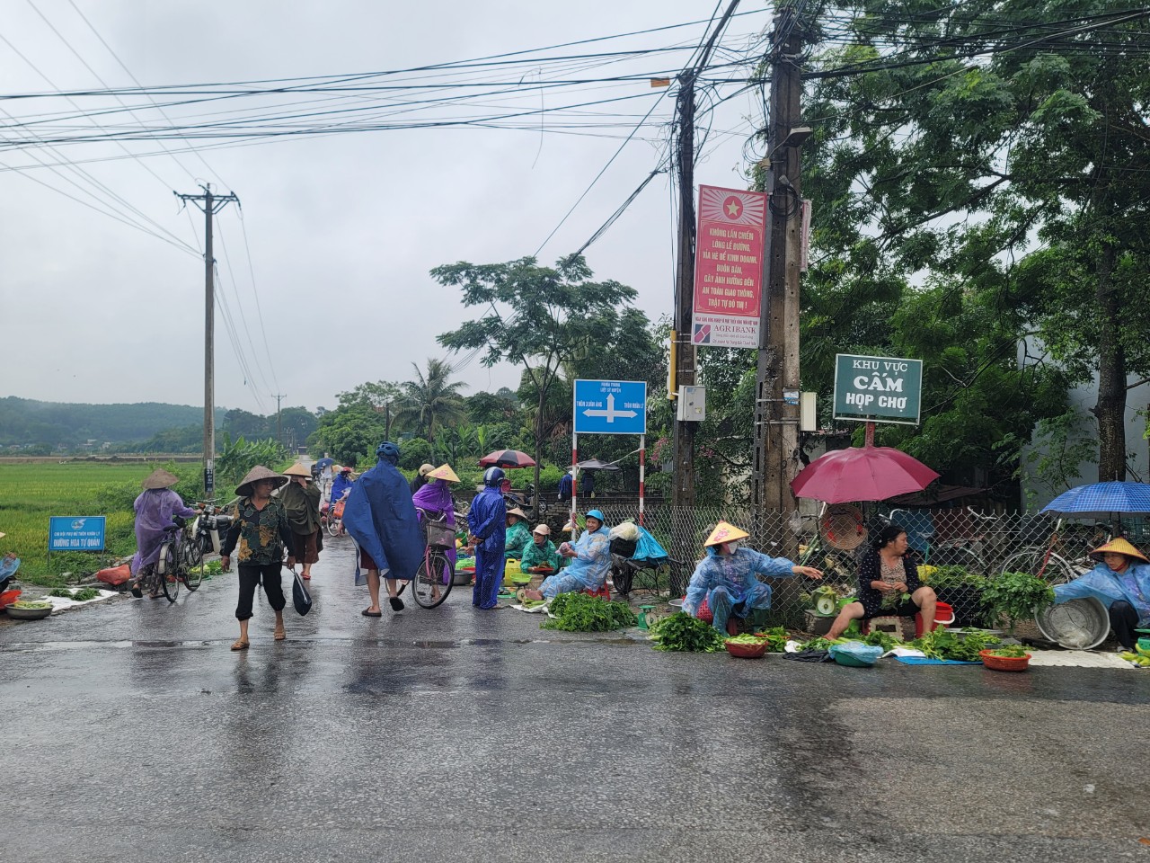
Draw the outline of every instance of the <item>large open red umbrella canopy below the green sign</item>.
[[[826,503],[885,501],[921,491],[938,479],[912,456],[891,446],[852,446],[820,456],[791,482],[796,497]]]

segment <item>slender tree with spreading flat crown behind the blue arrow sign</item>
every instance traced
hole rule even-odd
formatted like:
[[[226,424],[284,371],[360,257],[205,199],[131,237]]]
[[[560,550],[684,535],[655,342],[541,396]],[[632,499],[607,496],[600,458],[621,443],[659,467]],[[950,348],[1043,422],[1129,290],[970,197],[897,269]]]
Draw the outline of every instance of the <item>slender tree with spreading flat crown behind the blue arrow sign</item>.
[[[483,350],[483,365],[507,360],[522,366],[535,389],[535,486],[543,458],[544,410],[547,394],[565,362],[585,356],[593,345],[608,344],[610,314],[630,304],[632,288],[614,281],[592,282],[582,255],[570,255],[554,268],[535,258],[506,264],[459,262],[436,267],[432,277],[462,290],[463,306],[484,314],[438,336],[453,351]]]

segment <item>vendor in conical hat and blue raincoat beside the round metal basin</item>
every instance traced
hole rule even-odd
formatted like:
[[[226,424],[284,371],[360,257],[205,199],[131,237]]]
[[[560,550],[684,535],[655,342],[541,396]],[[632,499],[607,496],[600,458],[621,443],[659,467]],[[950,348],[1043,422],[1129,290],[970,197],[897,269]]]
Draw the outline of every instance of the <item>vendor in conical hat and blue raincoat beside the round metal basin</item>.
[[[1110,614],[1121,650],[1134,650],[1136,628],[1150,626],[1150,560],[1129,541],[1114,537],[1090,552],[1098,565],[1070,583],[1055,585],[1055,603],[1094,596]]]

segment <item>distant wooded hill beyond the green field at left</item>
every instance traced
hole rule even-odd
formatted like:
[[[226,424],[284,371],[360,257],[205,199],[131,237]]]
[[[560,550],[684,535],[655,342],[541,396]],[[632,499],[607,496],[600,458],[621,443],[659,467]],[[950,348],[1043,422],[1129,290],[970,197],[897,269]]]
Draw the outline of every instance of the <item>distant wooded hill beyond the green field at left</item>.
[[[216,408],[222,425],[225,408]],[[204,422],[204,408],[159,402],[87,405],[0,398],[0,446],[78,446],[147,441],[160,432]]]

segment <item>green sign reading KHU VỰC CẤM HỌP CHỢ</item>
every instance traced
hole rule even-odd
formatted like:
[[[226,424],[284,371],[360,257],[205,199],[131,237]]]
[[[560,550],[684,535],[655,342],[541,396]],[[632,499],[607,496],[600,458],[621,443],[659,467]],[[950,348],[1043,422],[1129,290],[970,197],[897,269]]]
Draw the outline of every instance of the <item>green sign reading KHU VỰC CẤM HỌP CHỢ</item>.
[[[835,356],[835,419],[919,425],[922,360]]]

